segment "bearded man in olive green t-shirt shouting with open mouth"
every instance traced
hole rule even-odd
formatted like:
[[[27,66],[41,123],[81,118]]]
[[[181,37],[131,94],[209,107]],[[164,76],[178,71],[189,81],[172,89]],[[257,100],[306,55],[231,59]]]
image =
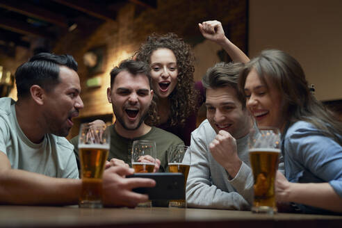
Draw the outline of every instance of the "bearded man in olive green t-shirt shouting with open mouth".
[[[111,87],[107,89],[107,97],[117,121],[109,127],[111,149],[108,159],[112,165],[131,165],[133,141],[153,140],[156,142],[154,172],[166,172],[169,147],[184,145],[184,142],[168,131],[145,124],[149,107],[155,105],[149,72],[147,63],[136,60],[124,60],[111,71]],[[77,138],[72,139],[74,145]],[[75,154],[77,157],[76,147]]]

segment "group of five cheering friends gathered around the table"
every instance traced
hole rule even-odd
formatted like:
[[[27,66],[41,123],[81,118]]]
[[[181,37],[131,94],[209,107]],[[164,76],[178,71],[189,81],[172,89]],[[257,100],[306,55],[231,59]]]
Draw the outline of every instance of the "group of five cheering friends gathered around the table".
[[[253,177],[247,138],[267,126],[282,133],[279,205],[342,213],[342,124],[311,94],[300,63],[275,49],[250,60],[220,22],[198,26],[233,60],[209,68],[202,83],[194,83],[190,45],[174,33],[150,35],[111,70],[107,97],[116,122],[109,127],[104,205],[148,200],[132,189],[153,187],[154,180],[125,177],[133,174],[133,141],[154,140],[155,172],[167,172],[170,146],[190,146],[188,206],[248,210]],[[15,80],[17,101],[0,99],[0,204],[77,204],[78,138],[65,138],[83,108],[77,63],[69,55],[37,54],[17,68]],[[202,103],[206,120],[196,128]]]

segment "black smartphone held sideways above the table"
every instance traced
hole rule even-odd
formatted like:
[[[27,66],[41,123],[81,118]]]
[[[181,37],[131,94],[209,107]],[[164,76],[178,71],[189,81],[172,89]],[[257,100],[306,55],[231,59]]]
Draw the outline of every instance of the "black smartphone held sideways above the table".
[[[127,176],[150,178],[156,181],[153,188],[133,188],[133,192],[149,195],[149,199],[185,199],[184,175],[172,172],[135,173]]]

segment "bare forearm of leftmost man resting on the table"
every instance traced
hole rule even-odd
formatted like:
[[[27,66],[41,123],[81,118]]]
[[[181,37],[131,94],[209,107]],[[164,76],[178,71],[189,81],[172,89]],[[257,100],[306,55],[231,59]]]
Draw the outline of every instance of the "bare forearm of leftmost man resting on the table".
[[[47,177],[24,170],[2,170],[0,203],[26,205],[77,204],[81,180]]]

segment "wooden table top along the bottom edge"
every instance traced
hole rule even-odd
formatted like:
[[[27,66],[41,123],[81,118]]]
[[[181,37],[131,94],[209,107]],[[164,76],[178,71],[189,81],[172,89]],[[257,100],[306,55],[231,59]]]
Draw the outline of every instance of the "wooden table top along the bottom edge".
[[[211,209],[79,209],[76,206],[0,206],[3,227],[342,227],[342,216]]]

